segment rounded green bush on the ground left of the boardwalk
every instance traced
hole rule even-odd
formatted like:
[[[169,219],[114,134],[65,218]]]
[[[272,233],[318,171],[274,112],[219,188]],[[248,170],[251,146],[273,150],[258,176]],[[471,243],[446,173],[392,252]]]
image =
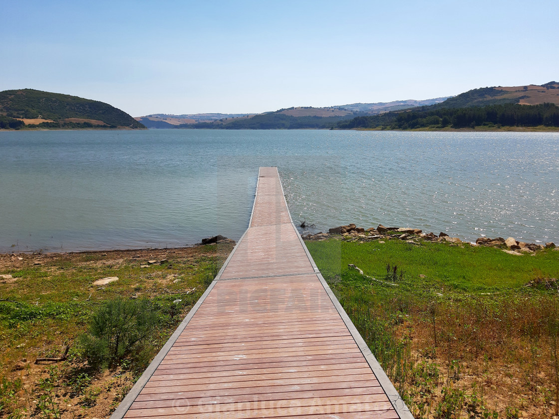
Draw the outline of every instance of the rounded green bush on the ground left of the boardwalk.
[[[113,366],[132,351],[141,351],[158,323],[158,312],[147,300],[106,301],[93,314],[89,334],[80,337],[89,364],[95,368]]]

